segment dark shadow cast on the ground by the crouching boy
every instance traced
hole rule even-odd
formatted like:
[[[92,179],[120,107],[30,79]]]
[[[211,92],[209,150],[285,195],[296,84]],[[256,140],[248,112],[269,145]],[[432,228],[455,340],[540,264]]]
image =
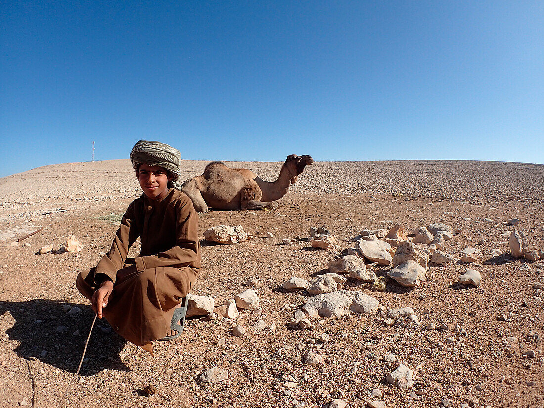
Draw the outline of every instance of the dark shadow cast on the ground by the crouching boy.
[[[6,333],[21,344],[14,349],[23,358],[34,357],[51,366],[75,373],[91,328],[94,312],[89,305],[70,303],[81,311],[65,313],[67,302],[35,299],[2,302],[0,315],[10,312],[15,325]],[[79,331],[79,333],[74,333]],[[119,357],[126,341],[112,331],[106,319],[96,320],[80,374],[92,375],[103,369],[129,371]]]

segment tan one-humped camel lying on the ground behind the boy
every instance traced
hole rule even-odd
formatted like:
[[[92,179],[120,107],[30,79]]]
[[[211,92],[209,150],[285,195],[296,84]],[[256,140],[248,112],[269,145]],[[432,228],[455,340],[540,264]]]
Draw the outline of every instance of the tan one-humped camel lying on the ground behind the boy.
[[[296,176],[312,164],[310,156],[290,154],[283,163],[280,176],[273,183],[262,180],[248,169],[231,169],[221,162],[209,163],[200,176],[183,183],[196,211],[215,209],[260,209],[275,208],[276,200],[287,194],[296,181]]]

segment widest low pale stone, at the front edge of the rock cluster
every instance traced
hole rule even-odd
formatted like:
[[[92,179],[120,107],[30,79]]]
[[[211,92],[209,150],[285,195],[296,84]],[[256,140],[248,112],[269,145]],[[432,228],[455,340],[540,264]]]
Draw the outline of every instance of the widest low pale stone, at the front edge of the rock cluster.
[[[348,311],[356,313],[375,313],[379,301],[358,290],[336,290],[336,292],[313,296],[308,299],[302,310],[313,318],[340,317]]]

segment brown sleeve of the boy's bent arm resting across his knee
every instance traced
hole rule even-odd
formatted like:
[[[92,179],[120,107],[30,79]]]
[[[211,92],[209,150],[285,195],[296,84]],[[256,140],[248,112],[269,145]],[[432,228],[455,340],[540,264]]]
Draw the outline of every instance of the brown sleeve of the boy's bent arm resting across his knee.
[[[189,197],[175,203],[176,246],[157,255],[134,258],[138,271],[148,268],[201,268],[199,243],[199,215]]]

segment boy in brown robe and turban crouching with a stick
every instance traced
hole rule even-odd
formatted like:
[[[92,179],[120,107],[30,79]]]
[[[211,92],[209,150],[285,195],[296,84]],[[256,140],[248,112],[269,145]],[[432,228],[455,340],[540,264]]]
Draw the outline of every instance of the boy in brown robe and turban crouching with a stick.
[[[120,336],[153,354],[153,340],[170,340],[183,330],[184,301],[202,268],[198,214],[179,191],[180,152],[140,140],[132,166],[144,194],[130,203],[112,249],[95,268],[78,275],[76,286]],[[127,258],[134,241],[141,251]]]

